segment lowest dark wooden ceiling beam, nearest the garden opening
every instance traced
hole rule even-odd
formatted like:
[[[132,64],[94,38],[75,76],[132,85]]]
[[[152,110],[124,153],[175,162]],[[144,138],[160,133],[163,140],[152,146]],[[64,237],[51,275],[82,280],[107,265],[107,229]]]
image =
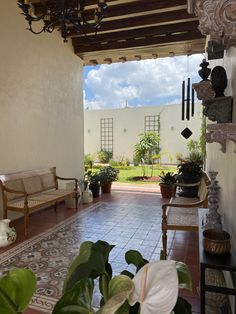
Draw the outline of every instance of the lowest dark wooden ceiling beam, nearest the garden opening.
[[[194,31],[198,27],[198,21],[190,21],[183,23],[175,23],[168,25],[152,26],[139,29],[126,30],[121,32],[112,32],[98,34],[97,36],[86,36],[86,37],[74,37],[72,43],[74,46],[77,45],[91,45],[99,42],[111,42],[117,40],[127,40],[139,37],[152,37],[162,34],[172,34],[176,32],[188,32]]]

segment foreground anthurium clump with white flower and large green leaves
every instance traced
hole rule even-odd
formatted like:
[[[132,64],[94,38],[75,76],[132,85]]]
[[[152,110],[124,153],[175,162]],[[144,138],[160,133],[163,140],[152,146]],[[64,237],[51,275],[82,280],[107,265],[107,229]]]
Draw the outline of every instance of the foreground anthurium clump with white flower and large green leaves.
[[[184,263],[168,260],[148,262],[138,251],[130,250],[125,259],[127,264],[135,266],[135,274],[124,270],[120,275],[112,276],[109,253],[113,247],[104,241],[81,244],[79,255],[65,278],[63,295],[52,314],[192,313],[191,305],[178,296],[179,288],[192,289],[190,272]],[[4,278],[0,280],[0,287]],[[92,306],[96,279],[99,280],[101,294],[98,309]],[[7,295],[10,293],[5,291]],[[28,301],[29,298],[25,299]],[[0,305],[0,313],[19,312],[1,312]]]

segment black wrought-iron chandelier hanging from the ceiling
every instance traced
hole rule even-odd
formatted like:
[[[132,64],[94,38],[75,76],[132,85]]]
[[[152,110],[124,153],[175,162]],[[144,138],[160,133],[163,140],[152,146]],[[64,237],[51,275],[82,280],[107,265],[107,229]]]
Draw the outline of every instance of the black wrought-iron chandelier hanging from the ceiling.
[[[85,3],[86,0],[40,0],[38,3],[30,0],[19,0],[18,6],[29,24],[27,29],[32,33],[52,33],[54,29],[58,29],[64,42],[67,42],[67,37],[72,30],[73,33],[86,35],[88,32],[95,32],[96,34],[101,25],[104,10],[107,7],[105,0],[98,0],[93,20],[89,14],[85,14]],[[35,22],[40,21],[43,25],[39,30],[35,30]]]

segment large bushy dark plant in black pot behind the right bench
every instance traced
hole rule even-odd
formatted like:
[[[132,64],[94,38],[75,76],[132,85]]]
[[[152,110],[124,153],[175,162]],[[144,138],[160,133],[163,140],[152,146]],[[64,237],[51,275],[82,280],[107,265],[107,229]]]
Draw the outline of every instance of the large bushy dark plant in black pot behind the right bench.
[[[201,180],[202,176],[202,163],[200,161],[193,160],[181,160],[181,163],[177,166],[177,182],[191,184]],[[181,196],[196,197],[198,187],[182,187]]]

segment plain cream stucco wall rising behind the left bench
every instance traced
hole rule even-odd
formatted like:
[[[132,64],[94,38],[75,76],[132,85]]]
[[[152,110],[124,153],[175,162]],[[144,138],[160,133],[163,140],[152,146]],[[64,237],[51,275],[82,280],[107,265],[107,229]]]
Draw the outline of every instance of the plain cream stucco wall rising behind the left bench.
[[[0,173],[55,165],[83,175],[82,62],[57,30],[33,35],[0,1]]]

